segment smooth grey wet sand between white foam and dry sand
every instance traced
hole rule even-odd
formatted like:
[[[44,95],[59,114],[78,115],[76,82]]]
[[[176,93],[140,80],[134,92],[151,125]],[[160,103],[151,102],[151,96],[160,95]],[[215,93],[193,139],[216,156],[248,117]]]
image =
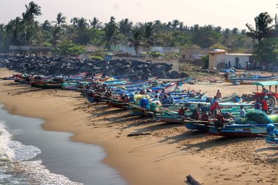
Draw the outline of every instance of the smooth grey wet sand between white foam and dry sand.
[[[51,173],[64,175],[72,182],[82,184],[126,184],[115,169],[101,163],[106,153],[100,146],[70,141],[70,133],[43,130],[42,119],[11,115],[2,108],[0,105],[0,118],[5,120],[13,139],[27,146],[38,147],[40,154],[31,160],[42,161],[42,165]],[[30,173],[28,170],[26,172]],[[34,173],[34,181],[41,178],[38,177],[39,172],[34,170]]]

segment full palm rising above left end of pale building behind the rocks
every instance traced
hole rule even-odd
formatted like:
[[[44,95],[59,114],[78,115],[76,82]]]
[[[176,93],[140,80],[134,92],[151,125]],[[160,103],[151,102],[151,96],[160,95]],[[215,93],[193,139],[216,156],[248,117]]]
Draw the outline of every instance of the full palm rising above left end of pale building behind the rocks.
[[[104,35],[101,38],[99,44],[104,44],[104,47],[108,50],[111,49],[112,44],[116,44],[119,40],[119,30],[117,24],[115,23],[115,17],[111,17],[110,21],[105,24]]]

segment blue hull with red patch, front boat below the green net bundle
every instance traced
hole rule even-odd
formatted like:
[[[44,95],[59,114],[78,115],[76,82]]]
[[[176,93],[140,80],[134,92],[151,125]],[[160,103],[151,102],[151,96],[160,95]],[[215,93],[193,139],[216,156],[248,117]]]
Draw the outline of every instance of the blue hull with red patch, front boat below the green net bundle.
[[[208,132],[214,136],[230,136],[230,137],[252,137],[259,136],[266,133],[267,124],[256,125],[225,125],[222,128],[217,128],[212,125],[208,125]],[[274,123],[275,127],[278,127],[278,123]]]

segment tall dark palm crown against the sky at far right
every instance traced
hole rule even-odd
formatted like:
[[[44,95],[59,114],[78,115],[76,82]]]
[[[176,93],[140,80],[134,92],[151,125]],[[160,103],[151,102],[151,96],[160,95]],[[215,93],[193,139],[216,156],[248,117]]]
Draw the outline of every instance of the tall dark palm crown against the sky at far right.
[[[273,19],[268,15],[268,12],[262,12],[257,17],[255,17],[256,28],[253,28],[250,24],[245,24],[249,30],[246,33],[247,37],[251,37],[254,40],[254,44],[256,39],[261,42],[261,39],[266,37],[270,37],[271,28],[270,24]]]

